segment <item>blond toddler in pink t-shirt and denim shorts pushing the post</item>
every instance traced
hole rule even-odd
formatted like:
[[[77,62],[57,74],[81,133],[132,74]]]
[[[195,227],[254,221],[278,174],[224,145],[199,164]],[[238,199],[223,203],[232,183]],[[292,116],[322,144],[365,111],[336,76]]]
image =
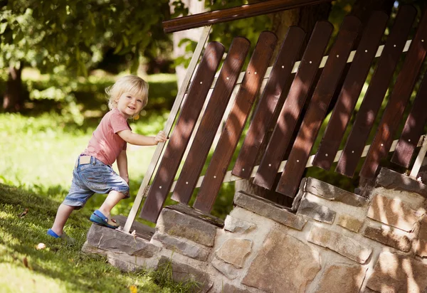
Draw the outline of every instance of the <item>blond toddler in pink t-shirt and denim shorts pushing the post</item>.
[[[129,198],[129,176],[127,174],[127,143],[138,146],[152,146],[166,142],[167,137],[160,131],[156,137],[144,137],[132,132],[127,119],[139,117],[147,105],[148,84],[135,75],[120,78],[105,92],[109,96],[107,112],[93,132],[88,147],[75,162],[70,191],[60,204],[55,222],[48,235],[54,238],[68,238],[63,228],[70,214],[83,208],[94,193],[107,193],[102,206],[93,212],[90,220],[98,225],[117,228],[119,225],[110,217],[112,208],[122,199]],[[119,175],[112,169],[117,160]]]

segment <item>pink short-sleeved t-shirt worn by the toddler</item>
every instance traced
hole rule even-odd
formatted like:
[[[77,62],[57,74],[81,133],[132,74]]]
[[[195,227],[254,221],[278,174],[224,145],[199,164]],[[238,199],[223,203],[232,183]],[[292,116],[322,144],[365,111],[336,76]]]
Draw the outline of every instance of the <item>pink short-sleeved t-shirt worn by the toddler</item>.
[[[126,129],[132,130],[126,118],[117,108],[111,110],[102,117],[83,154],[95,156],[102,163],[112,165],[120,152],[126,149],[126,142],[117,132]]]

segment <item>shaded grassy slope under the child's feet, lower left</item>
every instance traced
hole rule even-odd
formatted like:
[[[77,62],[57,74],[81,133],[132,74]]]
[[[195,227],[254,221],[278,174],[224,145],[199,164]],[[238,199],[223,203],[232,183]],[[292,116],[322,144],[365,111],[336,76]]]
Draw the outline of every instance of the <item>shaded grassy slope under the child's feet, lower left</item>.
[[[46,230],[58,205],[52,198],[0,184],[1,292],[132,292],[132,286],[138,292],[190,292],[194,286],[172,282],[170,267],[120,272],[105,257],[81,252],[91,224],[88,209],[68,220],[65,231],[75,245],[51,238]],[[26,208],[28,213],[19,217]],[[37,250],[39,243],[46,248]]]

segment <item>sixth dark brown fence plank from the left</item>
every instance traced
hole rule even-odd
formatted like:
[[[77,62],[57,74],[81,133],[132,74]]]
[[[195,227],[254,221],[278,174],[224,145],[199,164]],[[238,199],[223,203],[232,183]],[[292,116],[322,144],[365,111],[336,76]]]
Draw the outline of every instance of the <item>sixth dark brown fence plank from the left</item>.
[[[295,191],[300,185],[305,164],[307,164],[322,120],[325,118],[327,108],[347,63],[354,40],[359,33],[360,24],[359,18],[346,16],[339,29],[337,39],[330,50],[329,58],[319,82],[317,82],[312,100],[276,188],[276,191],[285,196],[294,197]]]

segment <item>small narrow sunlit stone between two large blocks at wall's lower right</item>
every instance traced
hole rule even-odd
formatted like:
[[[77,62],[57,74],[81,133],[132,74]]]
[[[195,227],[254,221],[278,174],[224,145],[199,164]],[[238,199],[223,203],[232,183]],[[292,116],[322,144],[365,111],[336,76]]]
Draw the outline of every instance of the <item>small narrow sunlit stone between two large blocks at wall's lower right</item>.
[[[367,226],[363,231],[363,235],[403,252],[408,252],[411,249],[411,240],[406,235],[396,233],[392,229],[385,230],[381,227]]]

